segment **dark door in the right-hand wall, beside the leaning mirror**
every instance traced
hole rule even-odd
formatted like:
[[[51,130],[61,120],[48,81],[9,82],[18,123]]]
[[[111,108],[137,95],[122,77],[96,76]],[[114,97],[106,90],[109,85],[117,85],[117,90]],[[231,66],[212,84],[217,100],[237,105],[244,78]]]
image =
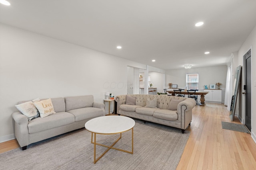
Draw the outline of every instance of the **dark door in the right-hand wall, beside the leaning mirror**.
[[[245,66],[245,125],[251,131],[251,51],[244,55]]]

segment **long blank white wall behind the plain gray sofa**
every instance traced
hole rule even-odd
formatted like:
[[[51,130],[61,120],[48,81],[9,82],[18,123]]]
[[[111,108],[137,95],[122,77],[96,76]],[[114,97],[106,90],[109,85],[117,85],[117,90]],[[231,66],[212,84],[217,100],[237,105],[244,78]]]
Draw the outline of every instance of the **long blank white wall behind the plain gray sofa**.
[[[82,37],[81,37],[82,38]],[[109,66],[112,69],[109,69]],[[126,94],[127,66],[146,65],[0,24],[0,142],[14,138],[22,100]]]

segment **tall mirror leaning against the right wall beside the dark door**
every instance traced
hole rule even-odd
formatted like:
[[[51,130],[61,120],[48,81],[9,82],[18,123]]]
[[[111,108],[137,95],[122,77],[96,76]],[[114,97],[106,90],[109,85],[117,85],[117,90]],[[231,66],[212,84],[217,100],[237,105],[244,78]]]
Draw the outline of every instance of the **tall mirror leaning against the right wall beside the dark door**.
[[[240,86],[240,78],[241,78],[241,70],[242,66],[238,66],[236,68],[236,72],[234,73],[234,90],[232,92],[232,100],[231,100],[231,106],[230,106],[230,120],[233,121],[236,111],[236,100],[238,95],[238,90]]]

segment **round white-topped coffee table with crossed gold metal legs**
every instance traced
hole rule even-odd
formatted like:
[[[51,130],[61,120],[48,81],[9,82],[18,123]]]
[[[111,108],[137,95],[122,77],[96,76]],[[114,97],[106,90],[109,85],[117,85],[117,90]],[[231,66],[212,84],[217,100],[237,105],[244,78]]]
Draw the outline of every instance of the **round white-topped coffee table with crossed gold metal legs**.
[[[130,117],[125,116],[102,116],[96,117],[87,121],[84,127],[92,133],[92,138],[94,134],[94,141],[91,139],[91,143],[94,144],[94,164],[110,149],[116,149],[123,152],[127,152],[133,154],[133,127],[135,125],[135,121]],[[122,150],[118,148],[114,148],[113,146],[121,139],[122,133],[125,131],[129,131],[132,129],[132,151]],[[111,145],[106,146],[99,143],[96,143],[96,134],[102,135],[110,135],[120,133],[120,137]],[[108,149],[96,159],[96,145],[100,145],[103,147],[107,147]]]

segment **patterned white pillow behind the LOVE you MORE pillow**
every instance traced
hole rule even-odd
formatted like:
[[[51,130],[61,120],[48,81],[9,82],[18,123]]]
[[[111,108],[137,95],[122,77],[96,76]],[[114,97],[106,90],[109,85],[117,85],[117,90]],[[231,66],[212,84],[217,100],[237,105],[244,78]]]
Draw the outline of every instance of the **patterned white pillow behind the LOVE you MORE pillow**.
[[[39,116],[39,112],[34,106],[32,101],[25,102],[22,104],[15,105],[15,107],[26,117],[28,117],[28,121],[31,121],[32,119]]]

